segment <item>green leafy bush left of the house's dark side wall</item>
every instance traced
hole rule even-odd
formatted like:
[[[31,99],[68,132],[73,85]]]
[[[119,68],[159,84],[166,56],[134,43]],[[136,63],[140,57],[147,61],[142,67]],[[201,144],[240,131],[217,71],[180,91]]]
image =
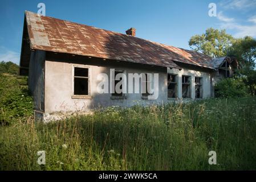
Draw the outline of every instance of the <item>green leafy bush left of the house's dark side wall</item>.
[[[27,77],[0,73],[0,125],[26,122],[32,113]]]

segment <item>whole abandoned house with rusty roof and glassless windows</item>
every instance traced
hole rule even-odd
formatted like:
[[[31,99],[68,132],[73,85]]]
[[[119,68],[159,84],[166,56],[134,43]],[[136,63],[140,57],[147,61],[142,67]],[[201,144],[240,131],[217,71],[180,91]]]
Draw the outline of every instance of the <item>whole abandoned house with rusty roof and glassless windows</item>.
[[[84,112],[97,107],[213,97],[216,81],[232,76],[237,66],[234,57],[212,59],[202,53],[137,38],[135,28],[120,34],[25,12],[20,75],[29,76],[35,115],[44,120],[55,118],[56,113]],[[97,75],[105,73],[110,77],[111,69],[115,69],[115,76],[158,73],[158,97],[149,100],[147,92],[97,92]]]

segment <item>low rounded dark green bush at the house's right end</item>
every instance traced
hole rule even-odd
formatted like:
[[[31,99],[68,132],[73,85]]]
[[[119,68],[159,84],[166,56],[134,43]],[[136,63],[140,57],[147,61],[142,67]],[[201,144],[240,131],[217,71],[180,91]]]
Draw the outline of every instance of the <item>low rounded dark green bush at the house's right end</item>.
[[[215,86],[216,97],[244,97],[248,94],[248,88],[241,78],[224,78]]]

